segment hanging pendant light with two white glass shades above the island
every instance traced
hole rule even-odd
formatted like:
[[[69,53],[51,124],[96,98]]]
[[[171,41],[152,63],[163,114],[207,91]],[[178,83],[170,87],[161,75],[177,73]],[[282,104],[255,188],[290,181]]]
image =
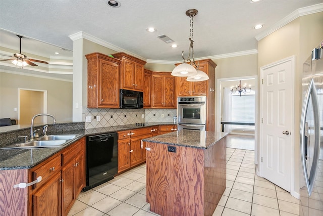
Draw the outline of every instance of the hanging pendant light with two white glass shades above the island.
[[[198,70],[198,64],[195,63],[194,60],[194,49],[193,49],[193,28],[194,28],[194,21],[193,17],[197,15],[198,11],[196,9],[190,9],[186,11],[186,16],[190,17],[190,37],[188,38],[190,41],[190,46],[188,49],[188,57],[184,57],[184,51],[182,51],[182,58],[183,63],[176,66],[174,70],[172,71],[173,76],[187,76],[187,81],[204,81],[209,79],[207,74],[204,73],[201,70]],[[190,59],[190,56],[192,54],[192,59]],[[190,64],[187,64],[187,63]],[[197,68],[195,69],[193,65]]]

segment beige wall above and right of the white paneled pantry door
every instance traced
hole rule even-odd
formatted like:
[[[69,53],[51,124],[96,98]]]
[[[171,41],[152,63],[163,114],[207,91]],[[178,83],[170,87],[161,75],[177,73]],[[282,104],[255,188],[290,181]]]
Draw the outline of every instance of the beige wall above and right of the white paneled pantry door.
[[[303,62],[311,50],[323,39],[323,12],[299,17],[258,42],[258,64],[260,67],[278,60],[295,56],[294,104],[294,191],[299,191],[299,125],[301,113],[301,73]],[[260,70],[259,70],[260,71]],[[260,76],[260,74],[259,74]],[[259,118],[258,118],[259,119]],[[292,188],[293,190],[293,188]]]

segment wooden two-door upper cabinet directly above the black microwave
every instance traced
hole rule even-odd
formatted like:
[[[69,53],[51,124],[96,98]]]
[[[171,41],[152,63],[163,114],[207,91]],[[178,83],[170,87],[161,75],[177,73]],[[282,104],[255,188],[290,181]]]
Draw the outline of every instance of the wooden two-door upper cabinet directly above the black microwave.
[[[143,74],[145,61],[126,53],[112,54],[122,60],[120,70],[120,89],[143,91]]]

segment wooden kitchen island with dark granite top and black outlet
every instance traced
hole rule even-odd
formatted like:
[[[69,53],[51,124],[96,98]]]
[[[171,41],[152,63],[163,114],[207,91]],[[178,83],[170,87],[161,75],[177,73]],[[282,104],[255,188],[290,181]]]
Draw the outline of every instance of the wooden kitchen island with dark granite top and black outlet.
[[[212,215],[226,189],[226,136],[182,130],[144,139],[150,210]]]

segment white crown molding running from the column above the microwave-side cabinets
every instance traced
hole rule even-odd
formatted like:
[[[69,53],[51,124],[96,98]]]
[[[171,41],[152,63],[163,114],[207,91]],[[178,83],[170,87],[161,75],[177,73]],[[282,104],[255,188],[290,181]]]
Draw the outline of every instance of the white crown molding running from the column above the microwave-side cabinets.
[[[81,38],[83,38],[83,39],[87,39],[87,40],[90,40],[90,41],[92,41],[92,42],[95,42],[95,43],[96,43],[96,44],[98,44],[98,45],[101,45],[101,46],[103,46],[103,47],[106,47],[106,48],[109,48],[109,49],[111,49],[111,50],[114,50],[114,51],[116,51],[116,52],[123,52],[123,53],[127,53],[127,54],[129,54],[129,55],[132,55],[132,56],[134,56],[134,57],[138,58],[138,59],[141,59],[141,60],[143,60],[143,61],[146,61],[146,59],[145,59],[145,58],[142,58],[141,56],[138,56],[138,55],[136,55],[136,54],[134,54],[134,53],[131,53],[131,52],[127,51],[127,50],[124,50],[124,49],[122,49],[122,48],[120,48],[120,47],[117,47],[117,46],[115,46],[115,45],[113,45],[113,44],[110,44],[109,42],[106,42],[106,41],[104,41],[104,40],[102,40],[102,39],[99,39],[99,38],[97,38],[97,37],[94,37],[94,36],[92,36],[92,35],[90,35],[90,34],[88,34],[88,33],[85,33],[85,32],[83,32],[83,31],[79,31],[79,32],[77,32],[77,33],[75,33],[75,34],[71,34],[71,35],[69,35],[69,37],[70,37],[73,41],[75,41],[75,40],[77,40],[77,39],[81,39]]]

